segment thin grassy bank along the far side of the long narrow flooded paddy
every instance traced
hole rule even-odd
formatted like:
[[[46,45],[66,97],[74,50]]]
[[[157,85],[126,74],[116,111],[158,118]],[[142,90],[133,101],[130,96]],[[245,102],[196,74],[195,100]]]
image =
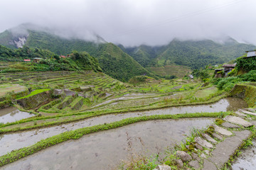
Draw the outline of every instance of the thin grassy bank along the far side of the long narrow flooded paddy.
[[[64,115],[55,115],[55,116],[48,116],[48,117],[32,117],[32,118],[26,118],[23,120],[18,120],[14,123],[6,123],[4,125],[0,125],[0,128],[7,127],[9,125],[16,125],[16,124],[21,124],[21,123],[27,123],[35,120],[46,120],[50,118],[61,118],[61,117],[68,117],[70,115],[83,115],[79,118],[71,118],[68,120],[60,120],[60,121],[53,121],[50,123],[43,123],[41,125],[33,125],[30,127],[26,128],[13,128],[9,130],[4,130],[0,129],[0,134],[7,133],[7,132],[17,132],[17,131],[23,131],[23,130],[31,130],[31,129],[36,129],[36,128],[43,128],[43,127],[48,127],[51,125],[60,125],[63,123],[71,123],[79,120],[84,120],[87,118],[92,118],[95,116],[100,116],[100,115],[107,115],[107,114],[116,114],[116,113],[127,113],[127,112],[136,112],[136,111],[149,111],[149,110],[156,110],[156,109],[161,109],[161,108],[169,108],[169,107],[176,107],[176,106],[197,106],[197,105],[203,105],[203,104],[210,104],[210,103],[215,103],[219,101],[221,98],[227,97],[228,94],[223,94],[220,96],[216,96],[215,98],[212,98],[210,101],[205,101],[205,102],[200,102],[200,103],[180,103],[180,104],[175,104],[175,105],[166,105],[166,106],[158,106],[154,108],[129,108],[129,109],[120,109],[116,111],[90,111],[90,112],[81,112],[81,113],[71,113],[71,114],[64,114]]]

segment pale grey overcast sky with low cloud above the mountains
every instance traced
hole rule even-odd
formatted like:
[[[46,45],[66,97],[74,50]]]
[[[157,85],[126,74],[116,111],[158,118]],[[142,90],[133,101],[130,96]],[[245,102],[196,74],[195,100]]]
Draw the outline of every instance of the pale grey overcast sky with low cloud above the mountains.
[[[0,32],[21,23],[65,36],[164,45],[173,38],[231,36],[256,45],[255,0],[0,0]]]

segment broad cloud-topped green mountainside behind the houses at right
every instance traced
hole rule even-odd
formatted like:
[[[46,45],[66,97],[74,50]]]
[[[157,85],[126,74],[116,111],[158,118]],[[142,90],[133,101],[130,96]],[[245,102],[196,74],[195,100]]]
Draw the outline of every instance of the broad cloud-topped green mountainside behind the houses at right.
[[[240,57],[245,50],[251,49],[255,49],[255,46],[240,44],[235,40],[223,45],[213,40],[173,40],[157,59],[161,65],[175,63],[198,69],[207,64],[221,64],[234,60]]]

